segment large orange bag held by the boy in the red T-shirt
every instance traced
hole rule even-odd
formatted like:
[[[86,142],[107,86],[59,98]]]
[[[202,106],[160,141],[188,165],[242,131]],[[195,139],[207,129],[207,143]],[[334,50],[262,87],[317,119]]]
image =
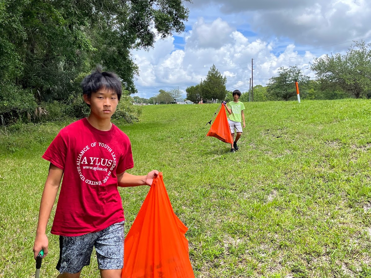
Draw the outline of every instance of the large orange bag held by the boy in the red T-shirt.
[[[121,278],[194,278],[187,230],[159,173],[125,238]]]

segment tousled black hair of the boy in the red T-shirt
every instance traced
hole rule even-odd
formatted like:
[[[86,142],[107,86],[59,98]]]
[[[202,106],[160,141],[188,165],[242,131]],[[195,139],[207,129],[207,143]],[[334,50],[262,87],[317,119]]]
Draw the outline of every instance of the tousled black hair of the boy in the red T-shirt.
[[[85,76],[81,82],[82,94],[87,95],[90,99],[92,93],[98,92],[99,89],[111,89],[117,94],[120,100],[122,95],[122,85],[118,76],[113,72],[103,72],[100,64],[96,65],[95,71]]]

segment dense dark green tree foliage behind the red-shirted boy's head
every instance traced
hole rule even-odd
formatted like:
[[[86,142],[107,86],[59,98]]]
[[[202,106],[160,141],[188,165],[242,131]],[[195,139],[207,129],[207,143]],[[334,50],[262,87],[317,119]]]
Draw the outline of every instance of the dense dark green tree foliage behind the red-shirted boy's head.
[[[183,32],[183,2],[190,0],[1,1],[0,102],[9,91],[26,96],[28,113],[42,101],[74,102],[97,63],[135,93],[131,49],[149,49],[157,34]],[[14,116],[18,106],[0,103],[0,115]]]

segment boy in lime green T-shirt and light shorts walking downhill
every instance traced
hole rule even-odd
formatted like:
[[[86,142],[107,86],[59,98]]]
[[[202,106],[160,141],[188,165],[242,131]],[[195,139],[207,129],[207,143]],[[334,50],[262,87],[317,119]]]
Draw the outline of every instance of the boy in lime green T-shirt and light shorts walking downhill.
[[[237,146],[237,141],[240,139],[242,134],[242,126],[241,122],[243,121],[243,127],[245,127],[245,115],[243,113],[243,110],[245,110],[245,106],[243,105],[243,102],[239,101],[239,98],[241,96],[241,92],[239,90],[234,90],[233,93],[233,101],[228,102],[227,104],[223,102],[223,105],[226,107],[229,116],[228,116],[228,123],[229,128],[232,133],[232,138],[234,138],[234,129],[236,129],[237,135],[236,139],[234,139],[234,143],[231,144],[231,150],[230,152],[235,152],[239,149]]]

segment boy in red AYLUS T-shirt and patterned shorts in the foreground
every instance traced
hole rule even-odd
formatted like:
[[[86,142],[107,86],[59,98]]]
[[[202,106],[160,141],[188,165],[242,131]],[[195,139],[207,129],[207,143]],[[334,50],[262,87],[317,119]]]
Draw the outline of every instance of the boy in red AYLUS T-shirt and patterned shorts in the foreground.
[[[93,246],[102,278],[121,278],[124,264],[124,210],[118,186],[151,186],[158,171],[135,176],[128,136],[111,123],[122,94],[121,81],[100,67],[82,81],[87,118],[58,133],[42,156],[50,162],[41,197],[33,252],[48,253],[46,226],[58,193],[51,233],[59,235],[58,278],[79,278]]]

